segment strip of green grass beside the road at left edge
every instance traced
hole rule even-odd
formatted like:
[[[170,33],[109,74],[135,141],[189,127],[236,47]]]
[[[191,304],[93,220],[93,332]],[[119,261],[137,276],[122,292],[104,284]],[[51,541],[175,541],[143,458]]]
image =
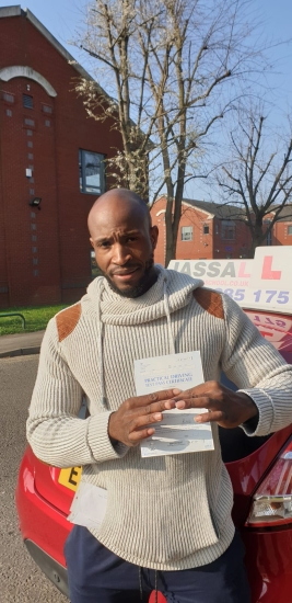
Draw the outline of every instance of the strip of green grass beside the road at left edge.
[[[33,331],[43,331],[49,319],[59,310],[66,308],[60,306],[30,306],[26,308],[7,308],[0,309],[0,335],[13,333],[31,333]],[[22,327],[22,320],[19,316],[1,317],[5,312],[20,312],[25,318],[25,329]]]

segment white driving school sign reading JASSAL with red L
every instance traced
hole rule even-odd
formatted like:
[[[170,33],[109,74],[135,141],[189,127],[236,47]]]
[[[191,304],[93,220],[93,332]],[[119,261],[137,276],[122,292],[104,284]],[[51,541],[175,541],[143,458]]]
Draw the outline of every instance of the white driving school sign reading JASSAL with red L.
[[[201,278],[243,308],[292,310],[292,247],[260,247],[254,260],[173,260],[168,268]]]

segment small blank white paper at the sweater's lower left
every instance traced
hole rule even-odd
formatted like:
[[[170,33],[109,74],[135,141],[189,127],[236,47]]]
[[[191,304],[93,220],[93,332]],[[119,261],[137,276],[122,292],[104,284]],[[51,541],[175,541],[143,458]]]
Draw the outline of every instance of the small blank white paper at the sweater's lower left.
[[[107,491],[80,481],[68,516],[69,522],[85,527],[101,527],[106,512]]]

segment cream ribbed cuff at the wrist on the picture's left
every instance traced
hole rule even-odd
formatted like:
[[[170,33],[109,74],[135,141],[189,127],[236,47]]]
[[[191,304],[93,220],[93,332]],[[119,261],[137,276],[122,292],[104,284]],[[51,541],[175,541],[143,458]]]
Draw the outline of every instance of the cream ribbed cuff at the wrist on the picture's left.
[[[128,446],[117,442],[113,446],[108,436],[108,421],[112,412],[102,412],[91,417],[89,421],[87,440],[96,463],[121,458],[128,452]]]

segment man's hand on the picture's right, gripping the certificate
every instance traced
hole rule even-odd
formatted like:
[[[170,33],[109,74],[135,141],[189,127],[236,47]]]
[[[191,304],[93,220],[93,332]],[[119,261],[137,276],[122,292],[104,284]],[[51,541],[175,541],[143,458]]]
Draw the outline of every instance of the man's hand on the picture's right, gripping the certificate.
[[[225,429],[237,428],[258,414],[257,407],[249,396],[232,391],[218,382],[207,382],[182,391],[174,400],[167,402],[165,409],[174,408],[174,403],[179,410],[207,408],[209,412],[196,416],[196,423],[215,421]]]

